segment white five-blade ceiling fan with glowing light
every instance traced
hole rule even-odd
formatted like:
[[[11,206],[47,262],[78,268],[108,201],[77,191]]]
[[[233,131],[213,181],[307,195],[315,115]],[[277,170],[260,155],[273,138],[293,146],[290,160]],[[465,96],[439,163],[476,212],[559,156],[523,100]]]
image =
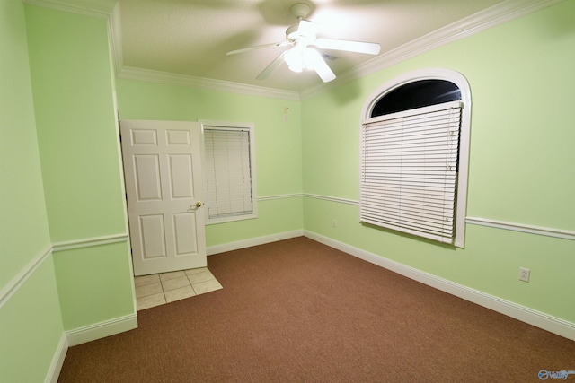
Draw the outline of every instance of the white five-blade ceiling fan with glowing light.
[[[291,46],[288,50],[280,53],[270,65],[258,74],[258,80],[266,79],[279,65],[288,64],[288,68],[294,72],[302,72],[304,69],[313,69],[320,76],[323,83],[328,83],[335,79],[335,74],[329,65],[323,60],[320,52],[315,48],[345,50],[349,52],[365,53],[368,55],[377,55],[379,53],[379,44],[374,42],[349,41],[342,39],[318,39],[316,33],[320,29],[320,24],[305,20],[310,12],[310,6],[304,3],[292,5],[290,12],[299,20],[299,23],[292,25],[286,30],[286,40],[264,44],[255,47],[241,48],[231,50],[226,56],[237,53],[248,52],[255,49],[267,47]]]

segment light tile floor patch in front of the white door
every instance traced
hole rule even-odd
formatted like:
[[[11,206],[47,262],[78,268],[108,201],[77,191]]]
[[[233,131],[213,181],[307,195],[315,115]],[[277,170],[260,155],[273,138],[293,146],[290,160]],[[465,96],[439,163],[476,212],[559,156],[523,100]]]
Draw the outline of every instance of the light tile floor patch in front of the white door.
[[[134,277],[137,310],[222,288],[208,267]]]

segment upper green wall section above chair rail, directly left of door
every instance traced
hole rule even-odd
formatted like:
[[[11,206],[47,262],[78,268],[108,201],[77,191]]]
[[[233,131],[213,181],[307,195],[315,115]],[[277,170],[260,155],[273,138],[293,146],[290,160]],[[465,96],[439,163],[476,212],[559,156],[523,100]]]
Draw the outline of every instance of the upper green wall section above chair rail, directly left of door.
[[[26,15],[52,241],[124,232],[106,20]]]

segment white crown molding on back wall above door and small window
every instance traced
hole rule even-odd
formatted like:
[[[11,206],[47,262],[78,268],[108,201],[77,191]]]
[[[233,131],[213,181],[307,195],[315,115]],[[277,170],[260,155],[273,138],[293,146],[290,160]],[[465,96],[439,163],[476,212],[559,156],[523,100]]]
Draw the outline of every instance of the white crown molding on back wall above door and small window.
[[[296,91],[283,91],[262,86],[247,85],[244,83],[232,83],[222,80],[212,80],[203,77],[194,77],[185,74],[172,74],[168,72],[154,71],[150,69],[124,66],[118,74],[118,78],[128,80],[140,80],[152,83],[171,83],[186,85],[196,88],[210,89],[214,91],[231,91],[234,93],[252,96],[270,97],[274,99],[301,100]]]

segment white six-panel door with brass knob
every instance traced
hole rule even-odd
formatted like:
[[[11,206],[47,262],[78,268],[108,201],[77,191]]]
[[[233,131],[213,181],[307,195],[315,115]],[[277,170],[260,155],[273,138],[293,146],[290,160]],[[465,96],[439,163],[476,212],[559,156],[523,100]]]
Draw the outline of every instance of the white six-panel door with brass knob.
[[[207,265],[199,125],[121,120],[134,274]]]

